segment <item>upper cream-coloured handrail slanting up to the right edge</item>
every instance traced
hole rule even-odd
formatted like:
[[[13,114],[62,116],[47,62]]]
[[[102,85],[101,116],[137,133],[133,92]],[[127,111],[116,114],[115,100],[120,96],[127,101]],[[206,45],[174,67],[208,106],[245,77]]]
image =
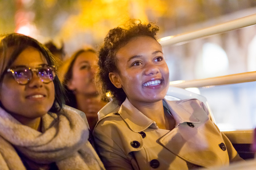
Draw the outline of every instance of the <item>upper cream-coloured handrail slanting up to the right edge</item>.
[[[205,29],[201,29],[193,32],[183,33],[177,36],[164,37],[159,39],[158,41],[162,46],[172,45],[172,44],[182,43],[188,40],[193,40],[193,39],[201,38],[205,36],[211,36],[217,33],[223,33],[226,31],[235,30],[235,29],[239,29],[239,28],[243,28],[243,27],[247,27],[255,24],[256,24],[256,14],[253,14],[237,20],[218,24],[213,27],[209,27],[209,28],[205,28]]]

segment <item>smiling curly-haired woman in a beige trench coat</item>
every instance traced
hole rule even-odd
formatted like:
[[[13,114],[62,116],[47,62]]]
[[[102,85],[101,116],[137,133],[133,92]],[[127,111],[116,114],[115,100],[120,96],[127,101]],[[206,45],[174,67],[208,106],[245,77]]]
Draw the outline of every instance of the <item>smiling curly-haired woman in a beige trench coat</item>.
[[[102,108],[110,112],[93,132],[106,169],[184,170],[242,160],[203,103],[164,99],[169,69],[157,31],[151,23],[117,27],[100,48],[99,86],[121,106]]]

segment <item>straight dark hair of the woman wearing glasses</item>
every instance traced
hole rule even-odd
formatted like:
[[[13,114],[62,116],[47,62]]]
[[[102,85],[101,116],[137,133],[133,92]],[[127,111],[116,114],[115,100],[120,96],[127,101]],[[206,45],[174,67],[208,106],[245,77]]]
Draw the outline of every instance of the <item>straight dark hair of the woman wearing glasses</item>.
[[[53,56],[47,48],[45,48],[34,38],[21,35],[19,33],[10,33],[1,36],[0,40],[0,82],[2,82],[6,70],[9,69],[19,54],[27,47],[36,48],[43,54],[47,64],[56,65],[55,56]],[[7,50],[9,48],[13,48],[13,50],[10,55],[7,55]],[[55,89],[55,99],[50,112],[58,113],[62,108],[63,103],[63,88],[58,78],[58,72],[55,79],[53,80],[53,83]]]

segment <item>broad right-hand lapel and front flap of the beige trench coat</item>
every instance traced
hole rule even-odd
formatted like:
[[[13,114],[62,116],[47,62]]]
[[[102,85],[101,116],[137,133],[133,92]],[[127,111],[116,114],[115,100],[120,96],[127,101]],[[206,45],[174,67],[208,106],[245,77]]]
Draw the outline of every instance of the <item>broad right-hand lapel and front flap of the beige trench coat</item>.
[[[223,142],[221,134],[215,129],[203,107],[198,107],[201,105],[198,100],[186,103],[164,102],[177,122],[177,127],[159,140],[165,148],[199,166],[210,167],[229,162],[227,150],[223,151],[219,147]],[[193,123],[194,127],[191,128],[187,122]]]

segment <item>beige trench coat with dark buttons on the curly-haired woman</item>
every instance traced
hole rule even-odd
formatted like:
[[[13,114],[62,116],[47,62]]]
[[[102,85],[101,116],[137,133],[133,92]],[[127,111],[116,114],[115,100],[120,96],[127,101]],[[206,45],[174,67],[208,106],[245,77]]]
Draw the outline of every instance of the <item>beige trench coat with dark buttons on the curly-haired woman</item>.
[[[128,99],[118,113],[101,118],[93,134],[106,169],[192,169],[242,160],[201,101],[164,99],[163,106],[175,120],[171,131],[159,129]]]

